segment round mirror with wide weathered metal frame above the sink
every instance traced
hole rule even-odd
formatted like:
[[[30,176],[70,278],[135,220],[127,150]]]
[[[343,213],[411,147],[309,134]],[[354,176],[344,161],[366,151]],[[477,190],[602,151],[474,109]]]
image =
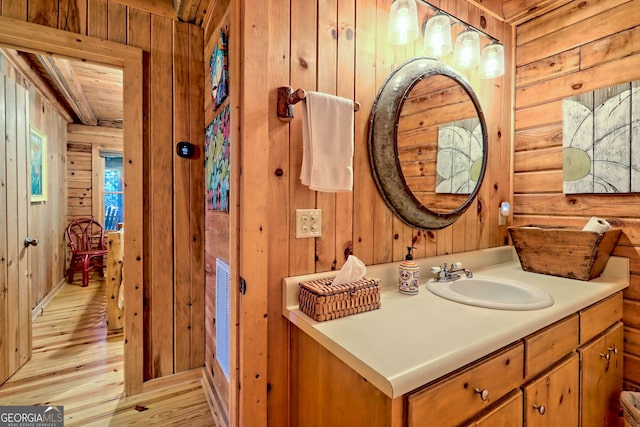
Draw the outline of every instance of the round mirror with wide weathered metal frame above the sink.
[[[486,168],[486,123],[471,86],[440,61],[403,63],[373,104],[369,158],[382,197],[403,222],[427,230],[455,222]]]

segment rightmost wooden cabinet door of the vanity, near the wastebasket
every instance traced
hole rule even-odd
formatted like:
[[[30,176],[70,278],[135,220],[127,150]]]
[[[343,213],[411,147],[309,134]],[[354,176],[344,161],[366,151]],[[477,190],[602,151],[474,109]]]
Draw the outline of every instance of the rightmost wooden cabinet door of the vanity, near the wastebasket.
[[[622,323],[618,323],[580,349],[580,415],[583,427],[620,425],[618,412],[622,391],[623,334]]]

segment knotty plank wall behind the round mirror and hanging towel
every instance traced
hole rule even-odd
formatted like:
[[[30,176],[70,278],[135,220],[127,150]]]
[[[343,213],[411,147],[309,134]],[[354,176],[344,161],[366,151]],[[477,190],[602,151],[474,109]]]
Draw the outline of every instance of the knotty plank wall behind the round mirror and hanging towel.
[[[412,229],[384,204],[367,151],[369,112],[378,89],[390,71],[421,51],[420,41],[399,48],[386,41],[392,1],[246,3],[242,28],[231,33],[232,40],[237,33],[244,36],[242,55],[251,59],[244,62],[239,101],[243,153],[239,275],[247,281],[247,293],[240,302],[240,369],[245,371],[240,376],[240,393],[241,402],[246,400],[254,409],[241,407],[240,421],[263,425],[263,394],[268,388],[268,424],[279,426],[288,423],[289,335],[281,315],[283,277],[339,269],[351,253],[366,264],[378,264],[401,260],[409,245],[417,247],[417,257],[425,257],[506,243],[506,227],[498,225],[498,206],[511,195],[511,75],[486,82],[474,74],[467,76],[478,88],[489,133],[488,169],[478,199],[453,226],[427,232]],[[433,3],[484,28],[510,51],[510,27],[476,4]],[[424,17],[428,9],[421,10]],[[355,115],[353,192],[316,193],[301,185],[302,106],[295,107],[296,118],[289,124],[279,121],[275,111],[276,90],[285,85],[360,102]],[[295,238],[299,208],[322,209],[322,237]],[[266,359],[260,350],[265,341]]]

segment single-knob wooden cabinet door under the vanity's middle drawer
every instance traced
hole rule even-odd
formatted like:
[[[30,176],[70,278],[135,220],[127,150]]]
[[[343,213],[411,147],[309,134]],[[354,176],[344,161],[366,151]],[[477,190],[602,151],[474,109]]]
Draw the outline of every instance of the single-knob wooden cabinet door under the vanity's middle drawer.
[[[578,355],[573,353],[551,371],[524,387],[527,427],[578,425]]]

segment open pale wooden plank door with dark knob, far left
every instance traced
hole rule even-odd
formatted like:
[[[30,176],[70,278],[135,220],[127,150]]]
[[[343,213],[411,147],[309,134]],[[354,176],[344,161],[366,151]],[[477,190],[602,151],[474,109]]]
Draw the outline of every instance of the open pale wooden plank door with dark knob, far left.
[[[0,384],[31,358],[29,95],[0,74]]]

